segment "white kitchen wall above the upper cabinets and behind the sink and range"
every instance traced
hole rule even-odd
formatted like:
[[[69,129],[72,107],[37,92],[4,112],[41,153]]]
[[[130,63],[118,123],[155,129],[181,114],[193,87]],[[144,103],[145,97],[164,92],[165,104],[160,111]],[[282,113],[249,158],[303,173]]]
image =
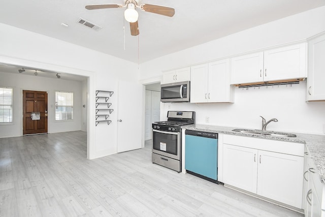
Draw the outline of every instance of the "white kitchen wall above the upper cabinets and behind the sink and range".
[[[148,61],[140,67],[141,79],[159,78],[161,72],[168,69],[299,41],[323,31],[325,7],[320,7]],[[237,87],[234,104],[165,103],[160,116],[166,119],[168,110],[193,110],[197,112],[197,123],[205,123],[205,117],[209,116],[207,124],[210,125],[259,129],[259,115],[262,115],[266,119],[279,119],[279,122],[270,123],[270,130],[322,134],[325,103],[306,103],[305,100],[305,81],[292,87],[249,90]]]

